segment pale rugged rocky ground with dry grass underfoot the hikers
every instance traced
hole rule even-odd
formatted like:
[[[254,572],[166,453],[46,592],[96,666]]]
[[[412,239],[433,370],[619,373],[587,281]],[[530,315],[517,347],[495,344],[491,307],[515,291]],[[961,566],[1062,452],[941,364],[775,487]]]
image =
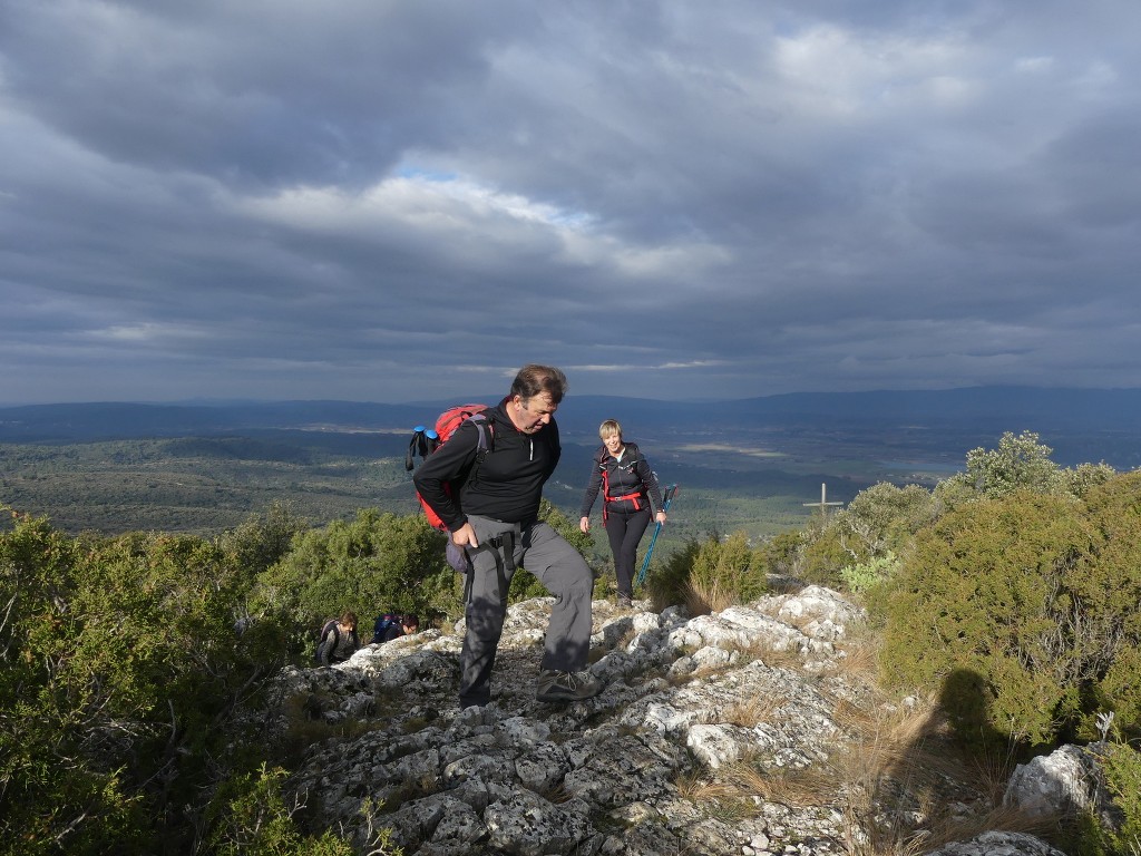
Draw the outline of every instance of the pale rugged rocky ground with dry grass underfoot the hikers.
[[[308,822],[367,853],[362,808],[381,803],[374,823],[406,856],[1060,853],[974,834],[993,793],[930,760],[949,756],[919,702],[876,692],[852,638],[864,616],[835,591],[696,617],[596,601],[606,687],[564,705],[534,698],[550,603],[509,609],[483,709],[456,703],[462,624],[282,672],[268,736],[301,759]],[[938,843],[948,829],[962,839]]]

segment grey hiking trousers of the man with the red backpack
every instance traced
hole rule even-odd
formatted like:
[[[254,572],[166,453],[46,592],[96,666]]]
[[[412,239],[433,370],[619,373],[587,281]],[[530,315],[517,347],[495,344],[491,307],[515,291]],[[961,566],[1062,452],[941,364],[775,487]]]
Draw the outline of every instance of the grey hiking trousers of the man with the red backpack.
[[[541,668],[581,671],[590,649],[593,575],[582,555],[545,523],[523,527],[469,515],[479,549],[464,588],[467,632],[460,654],[460,706],[491,701],[492,667],[503,635],[507,593],[517,567],[526,567],[555,596]]]

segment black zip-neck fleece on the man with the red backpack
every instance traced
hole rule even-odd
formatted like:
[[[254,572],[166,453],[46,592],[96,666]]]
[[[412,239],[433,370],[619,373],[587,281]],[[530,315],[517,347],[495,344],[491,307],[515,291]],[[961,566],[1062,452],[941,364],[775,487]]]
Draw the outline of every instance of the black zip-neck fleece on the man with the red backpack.
[[[420,465],[412,477],[424,502],[455,532],[468,515],[491,517],[525,526],[539,517],[543,484],[558,466],[563,447],[559,428],[551,419],[535,434],[524,434],[507,414],[507,399],[487,415],[488,451],[474,477],[472,463],[479,445],[479,431],[471,420],[460,425],[447,442]],[[445,485],[452,485],[445,490]],[[456,491],[459,486],[459,501]]]

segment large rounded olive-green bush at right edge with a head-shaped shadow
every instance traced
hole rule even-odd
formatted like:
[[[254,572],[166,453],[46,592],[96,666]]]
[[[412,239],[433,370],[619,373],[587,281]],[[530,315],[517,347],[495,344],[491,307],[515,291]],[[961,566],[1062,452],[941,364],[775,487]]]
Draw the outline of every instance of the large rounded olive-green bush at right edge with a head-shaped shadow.
[[[1138,474],[1093,488],[1089,507],[1018,491],[965,503],[921,532],[872,605],[889,681],[941,687],[971,741],[1089,737],[1094,712],[1110,706],[1135,727],[1139,491]]]

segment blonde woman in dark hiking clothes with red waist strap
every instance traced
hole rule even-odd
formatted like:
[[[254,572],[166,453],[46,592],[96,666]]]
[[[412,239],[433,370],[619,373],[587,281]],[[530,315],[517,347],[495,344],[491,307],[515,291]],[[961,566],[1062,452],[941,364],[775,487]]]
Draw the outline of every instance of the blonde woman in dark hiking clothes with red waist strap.
[[[638,445],[622,438],[622,426],[607,419],[598,428],[602,445],[594,453],[586,493],[582,498],[578,528],[590,531],[590,510],[602,491],[602,526],[614,554],[614,574],[618,580],[618,606],[629,608],[633,599],[634,562],[638,544],[653,516],[665,523],[662,490]]]

